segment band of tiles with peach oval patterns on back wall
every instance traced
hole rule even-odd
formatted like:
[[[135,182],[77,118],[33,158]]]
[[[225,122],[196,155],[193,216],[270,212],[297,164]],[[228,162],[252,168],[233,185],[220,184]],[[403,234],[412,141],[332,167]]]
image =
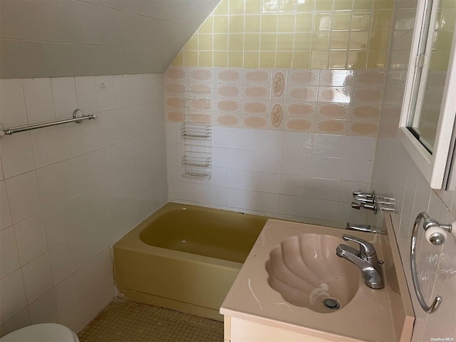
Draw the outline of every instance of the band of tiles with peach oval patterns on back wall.
[[[385,75],[373,70],[170,67],[166,120],[376,136]]]

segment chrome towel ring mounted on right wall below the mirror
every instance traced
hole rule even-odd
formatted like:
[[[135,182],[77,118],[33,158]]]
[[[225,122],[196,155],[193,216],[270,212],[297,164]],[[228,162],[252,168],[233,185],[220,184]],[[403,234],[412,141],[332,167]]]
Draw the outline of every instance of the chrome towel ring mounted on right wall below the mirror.
[[[425,239],[427,240],[427,242],[435,246],[440,246],[445,242],[447,232],[452,234],[456,241],[456,229],[453,229],[453,226],[456,227],[456,222],[440,224],[439,222],[435,221],[435,219],[431,219],[426,212],[420,212],[420,214],[418,214],[418,216],[415,219],[415,223],[413,224],[412,240],[410,242],[410,268],[412,269],[413,287],[415,288],[416,296],[418,297],[418,301],[420,302],[420,305],[423,308],[423,310],[426,311],[428,314],[432,314],[432,312],[435,312],[439,308],[440,304],[442,304],[442,297],[436,296],[434,301],[432,301],[432,304],[428,306],[423,297],[423,293],[420,289],[420,283],[418,281],[418,271],[416,268],[415,247],[418,234],[418,227],[420,227],[422,219],[424,219],[423,229],[425,229]]]

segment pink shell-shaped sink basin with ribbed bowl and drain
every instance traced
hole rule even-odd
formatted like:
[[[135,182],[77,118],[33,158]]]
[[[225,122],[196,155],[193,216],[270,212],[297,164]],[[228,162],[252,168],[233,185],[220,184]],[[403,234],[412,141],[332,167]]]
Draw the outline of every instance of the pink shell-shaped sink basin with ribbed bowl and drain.
[[[336,255],[342,243],[321,234],[285,239],[266,261],[269,286],[295,306],[320,313],[343,309],[364,283],[360,269]]]

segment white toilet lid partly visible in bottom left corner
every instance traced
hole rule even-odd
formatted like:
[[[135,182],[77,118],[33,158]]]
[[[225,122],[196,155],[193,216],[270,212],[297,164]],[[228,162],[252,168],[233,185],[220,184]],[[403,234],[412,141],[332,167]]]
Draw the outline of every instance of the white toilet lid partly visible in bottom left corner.
[[[76,333],[57,323],[26,326],[0,338],[0,342],[79,342]]]

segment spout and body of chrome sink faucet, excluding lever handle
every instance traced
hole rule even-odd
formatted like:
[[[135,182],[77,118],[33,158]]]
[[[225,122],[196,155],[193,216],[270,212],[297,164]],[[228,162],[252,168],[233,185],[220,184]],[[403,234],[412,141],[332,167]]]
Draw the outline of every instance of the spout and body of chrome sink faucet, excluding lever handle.
[[[383,289],[383,277],[380,264],[373,265],[363,258],[361,252],[346,244],[339,244],[336,249],[338,257],[353,262],[363,272],[364,283],[372,289]]]

